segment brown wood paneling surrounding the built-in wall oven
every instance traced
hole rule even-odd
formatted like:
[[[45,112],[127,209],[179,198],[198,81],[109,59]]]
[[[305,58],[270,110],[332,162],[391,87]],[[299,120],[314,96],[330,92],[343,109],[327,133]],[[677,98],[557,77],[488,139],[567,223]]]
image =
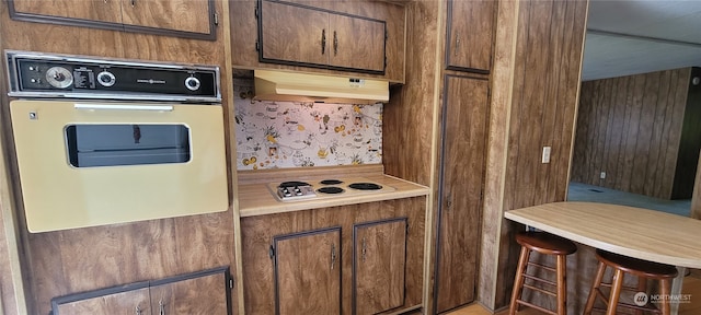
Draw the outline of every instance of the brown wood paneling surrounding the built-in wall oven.
[[[0,2],[0,48],[56,54],[103,56],[157,61],[216,65],[222,70],[221,86],[225,113],[232,113],[228,2],[215,0],[220,24],[217,40],[195,40],[143,35],[85,27],[18,22],[9,19],[7,1]],[[5,73],[2,71],[2,73]],[[2,82],[4,86],[7,82]],[[2,95],[7,95],[2,93]],[[0,96],[3,140],[11,141],[9,98]],[[230,139],[232,115],[225,114],[229,164],[235,156]],[[3,148],[9,161],[9,174],[0,180],[14,188],[19,196],[16,161],[12,143]],[[229,165],[229,170],[231,166]],[[230,171],[230,184],[235,175]],[[232,187],[230,185],[230,187]],[[230,189],[231,191],[231,189]],[[4,194],[2,194],[4,198]],[[230,192],[230,196],[233,196]],[[233,197],[231,197],[233,198]],[[7,207],[8,200],[0,200]],[[135,281],[160,279],[217,266],[233,266],[233,211],[152,220],[137,223],[85,228],[69,231],[28,233],[22,218],[21,202],[12,212],[18,214],[18,232],[23,256],[24,284],[27,288],[28,314],[47,314],[51,298]],[[3,220],[9,218],[4,217]],[[4,226],[9,226],[5,222]],[[11,225],[10,225],[11,226]],[[4,234],[2,234],[4,236]],[[5,237],[0,241],[5,242]],[[5,256],[2,256],[5,257]],[[0,258],[4,259],[4,258]],[[4,266],[4,261],[2,261]],[[3,271],[2,271],[3,272]],[[4,276],[4,275],[2,275]],[[3,287],[5,279],[2,280]],[[5,288],[2,288],[5,294]],[[3,303],[5,303],[5,295]],[[232,301],[237,303],[235,290]],[[23,303],[20,302],[20,303]],[[235,313],[235,306],[234,313]],[[8,312],[14,314],[15,312]]]

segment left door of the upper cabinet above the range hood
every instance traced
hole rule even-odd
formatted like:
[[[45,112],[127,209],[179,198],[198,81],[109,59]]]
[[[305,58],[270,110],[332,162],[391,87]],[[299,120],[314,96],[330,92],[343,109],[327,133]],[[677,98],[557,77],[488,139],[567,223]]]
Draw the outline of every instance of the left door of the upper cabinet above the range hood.
[[[288,3],[261,1],[258,23],[262,61],[329,63],[329,13]]]

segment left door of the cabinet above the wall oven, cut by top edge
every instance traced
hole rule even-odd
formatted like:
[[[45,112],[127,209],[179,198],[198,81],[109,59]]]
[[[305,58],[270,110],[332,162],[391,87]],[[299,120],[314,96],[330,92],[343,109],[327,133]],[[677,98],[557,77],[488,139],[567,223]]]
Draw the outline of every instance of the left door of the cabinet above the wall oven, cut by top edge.
[[[13,0],[15,14],[31,14],[61,19],[80,19],[108,23],[122,23],[119,1],[116,0]],[[13,12],[11,12],[13,14]],[[50,19],[49,18],[49,19]]]

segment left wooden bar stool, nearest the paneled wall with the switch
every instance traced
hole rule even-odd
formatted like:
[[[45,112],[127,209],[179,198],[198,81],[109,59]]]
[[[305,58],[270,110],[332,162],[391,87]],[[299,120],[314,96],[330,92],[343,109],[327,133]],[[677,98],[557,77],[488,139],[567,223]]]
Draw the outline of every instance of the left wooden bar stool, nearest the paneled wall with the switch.
[[[516,242],[521,245],[521,255],[518,259],[518,268],[516,269],[516,279],[514,280],[514,292],[512,293],[512,303],[509,305],[509,315],[516,314],[516,311],[520,307],[520,305],[526,305],[539,310],[541,312],[545,312],[548,314],[554,315],[565,315],[567,313],[566,302],[567,302],[567,284],[565,281],[566,275],[566,256],[577,252],[577,245],[575,245],[572,241],[562,238],[556,235],[548,234],[544,232],[519,232],[516,234]],[[556,266],[543,266],[541,264],[536,264],[530,261],[531,252],[537,252],[543,255],[555,255],[556,256]],[[533,275],[526,273],[527,267],[532,266],[533,268],[540,268],[544,270],[549,270],[555,272],[556,280],[550,281],[543,278],[539,278]],[[526,279],[530,279],[536,282],[545,283],[548,285],[554,287],[555,291],[549,291],[542,288],[535,287],[532,284],[526,283]],[[521,300],[521,295],[524,293],[524,289],[530,289],[535,291],[539,291],[545,293],[548,295],[554,296],[558,300],[558,312],[553,312],[551,310],[547,310],[542,306],[535,305],[532,303],[526,302]]]

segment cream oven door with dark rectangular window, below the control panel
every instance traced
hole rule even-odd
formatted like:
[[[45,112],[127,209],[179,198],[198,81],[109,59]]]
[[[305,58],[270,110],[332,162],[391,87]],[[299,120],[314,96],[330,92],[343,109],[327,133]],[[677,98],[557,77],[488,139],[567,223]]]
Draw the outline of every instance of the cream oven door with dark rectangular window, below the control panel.
[[[226,211],[220,105],[13,101],[27,229]]]

